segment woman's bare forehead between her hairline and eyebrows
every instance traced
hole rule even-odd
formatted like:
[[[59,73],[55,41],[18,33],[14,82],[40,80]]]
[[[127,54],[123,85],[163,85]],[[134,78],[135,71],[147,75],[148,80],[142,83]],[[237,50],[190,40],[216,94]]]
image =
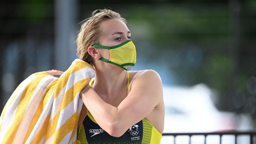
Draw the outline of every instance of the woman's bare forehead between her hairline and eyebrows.
[[[126,34],[129,29],[122,20],[114,18],[100,22],[100,31],[102,35],[111,35],[117,31]]]

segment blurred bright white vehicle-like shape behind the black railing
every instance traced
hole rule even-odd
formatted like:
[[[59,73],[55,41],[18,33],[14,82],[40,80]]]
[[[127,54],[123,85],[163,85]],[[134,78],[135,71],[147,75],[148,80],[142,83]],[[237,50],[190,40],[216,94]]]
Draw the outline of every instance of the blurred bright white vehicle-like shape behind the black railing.
[[[204,84],[193,87],[163,87],[165,102],[165,126],[163,133],[196,133],[229,130],[247,130],[253,126],[252,120],[245,114],[237,125],[236,114],[220,112],[211,100],[213,92]],[[249,137],[238,137],[238,141],[247,144]],[[248,141],[248,142],[247,142]],[[219,144],[219,136],[208,136],[207,144]],[[188,136],[177,136],[176,144],[188,144]],[[222,137],[223,144],[234,144],[232,135]],[[161,144],[174,144],[174,138],[163,136]],[[192,136],[191,144],[204,144],[204,136]]]

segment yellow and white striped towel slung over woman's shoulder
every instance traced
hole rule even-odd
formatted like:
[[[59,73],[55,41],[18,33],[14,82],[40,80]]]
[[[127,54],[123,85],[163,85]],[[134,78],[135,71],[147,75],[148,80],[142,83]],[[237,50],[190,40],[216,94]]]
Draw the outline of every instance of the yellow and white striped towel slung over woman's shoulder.
[[[76,143],[83,105],[79,94],[94,74],[93,66],[75,59],[59,78],[46,72],[30,75],[2,111],[0,143]]]

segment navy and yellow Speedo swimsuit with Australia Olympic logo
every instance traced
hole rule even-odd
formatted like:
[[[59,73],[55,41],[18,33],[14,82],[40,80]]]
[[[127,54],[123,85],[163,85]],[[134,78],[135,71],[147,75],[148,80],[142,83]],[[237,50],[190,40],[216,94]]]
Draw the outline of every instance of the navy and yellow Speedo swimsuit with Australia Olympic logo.
[[[129,75],[128,72],[127,88],[130,84]],[[79,128],[78,144],[160,144],[161,133],[145,118],[130,127],[121,137],[113,137],[97,124],[88,109],[86,112]]]

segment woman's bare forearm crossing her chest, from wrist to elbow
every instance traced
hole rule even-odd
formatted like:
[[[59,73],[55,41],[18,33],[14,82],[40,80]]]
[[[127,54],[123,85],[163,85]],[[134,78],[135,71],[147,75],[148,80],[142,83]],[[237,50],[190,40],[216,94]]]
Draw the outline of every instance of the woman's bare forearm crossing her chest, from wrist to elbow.
[[[111,135],[119,121],[117,107],[104,102],[92,88],[87,89],[81,98],[98,125]]]

